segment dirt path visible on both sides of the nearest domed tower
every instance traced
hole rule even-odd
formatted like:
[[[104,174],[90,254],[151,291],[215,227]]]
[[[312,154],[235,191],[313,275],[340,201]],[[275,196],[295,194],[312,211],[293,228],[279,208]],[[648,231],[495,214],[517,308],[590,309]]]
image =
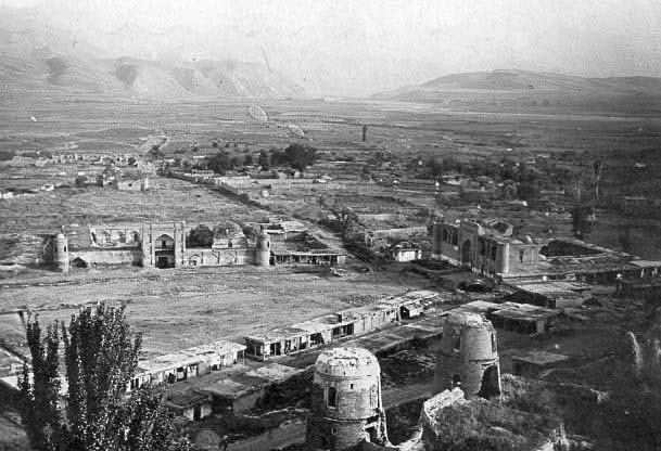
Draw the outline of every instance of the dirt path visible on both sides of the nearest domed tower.
[[[408,387],[383,391],[383,407],[385,409],[403,404],[419,398],[432,396],[431,384],[416,384]],[[284,448],[305,440],[305,423],[295,423],[282,428],[272,429],[257,437],[230,443],[228,451],[269,451]]]

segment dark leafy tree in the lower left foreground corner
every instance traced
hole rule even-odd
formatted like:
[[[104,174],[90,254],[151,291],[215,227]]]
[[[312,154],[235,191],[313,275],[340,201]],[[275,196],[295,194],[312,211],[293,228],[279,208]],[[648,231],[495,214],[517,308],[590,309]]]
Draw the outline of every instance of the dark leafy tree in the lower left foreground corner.
[[[124,308],[100,305],[72,317],[68,328],[55,323],[41,336],[38,318],[27,324],[33,356],[20,381],[21,415],[38,451],[183,451],[190,442],[178,436],[158,390],[141,388],[128,396],[141,337],[134,334]],[[58,409],[58,350],[64,346],[67,405]]]

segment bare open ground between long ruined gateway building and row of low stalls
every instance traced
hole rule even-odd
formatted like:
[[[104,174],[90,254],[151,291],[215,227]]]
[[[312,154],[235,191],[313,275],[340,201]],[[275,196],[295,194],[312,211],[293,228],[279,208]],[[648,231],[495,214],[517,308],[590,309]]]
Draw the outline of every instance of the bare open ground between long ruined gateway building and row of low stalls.
[[[428,283],[406,274],[335,278],[253,267],[90,270],[12,282],[0,288],[2,311],[29,306],[43,322],[68,321],[89,302],[126,304],[131,324],[144,334],[147,355],[221,338],[242,342],[245,335],[347,308],[355,296],[396,294]],[[13,346],[22,343],[16,313],[0,314],[0,325],[2,339]]]

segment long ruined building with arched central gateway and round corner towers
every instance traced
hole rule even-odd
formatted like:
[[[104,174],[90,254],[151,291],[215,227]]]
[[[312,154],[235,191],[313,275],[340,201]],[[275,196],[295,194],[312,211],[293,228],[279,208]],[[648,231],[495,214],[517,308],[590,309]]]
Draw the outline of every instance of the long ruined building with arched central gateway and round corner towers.
[[[59,271],[98,266],[145,268],[255,265],[343,265],[345,255],[307,231],[287,235],[280,229],[232,221],[187,227],[183,221],[77,227],[53,237]],[[203,228],[203,229],[200,229]],[[200,242],[200,234],[204,241]]]

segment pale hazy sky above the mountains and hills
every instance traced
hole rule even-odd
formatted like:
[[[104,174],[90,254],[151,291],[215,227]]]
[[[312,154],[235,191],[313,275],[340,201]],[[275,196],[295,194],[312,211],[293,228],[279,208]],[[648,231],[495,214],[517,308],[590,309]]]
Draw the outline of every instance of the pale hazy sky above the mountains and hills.
[[[449,73],[661,76],[661,0],[0,0],[115,56],[265,61],[312,94]]]

